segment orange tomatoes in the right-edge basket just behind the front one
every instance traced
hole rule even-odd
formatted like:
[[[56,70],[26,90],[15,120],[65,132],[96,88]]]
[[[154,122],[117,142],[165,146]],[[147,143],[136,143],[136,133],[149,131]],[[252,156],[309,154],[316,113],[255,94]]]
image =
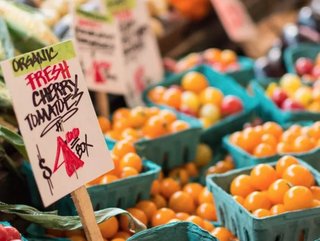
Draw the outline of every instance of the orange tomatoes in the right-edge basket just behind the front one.
[[[247,127],[230,136],[230,142],[256,157],[277,153],[304,153],[320,147],[320,122],[310,126],[292,125],[284,130],[275,122]]]

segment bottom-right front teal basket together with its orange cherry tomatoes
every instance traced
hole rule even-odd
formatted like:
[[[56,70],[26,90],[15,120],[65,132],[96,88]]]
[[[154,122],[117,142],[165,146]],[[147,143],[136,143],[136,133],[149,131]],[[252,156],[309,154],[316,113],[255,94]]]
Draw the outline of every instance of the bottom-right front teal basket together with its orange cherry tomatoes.
[[[281,159],[271,165],[260,164],[254,168],[207,178],[209,190],[217,197],[219,220],[236,233],[240,240],[277,240],[281,237],[289,241],[302,237],[303,240],[311,241],[319,236],[317,225],[313,225],[314,217],[320,211],[319,200],[309,189],[312,185],[318,188],[318,171],[302,161],[297,161],[298,164],[287,161],[285,166],[280,165],[280,162]],[[296,168],[299,170],[291,172],[291,169]],[[276,170],[284,170],[280,175],[282,179],[279,179]],[[288,176],[287,172],[290,172]],[[299,175],[304,175],[304,172],[307,177],[300,179]],[[290,187],[285,182],[290,183]],[[266,190],[267,194],[264,193]],[[270,197],[273,201],[270,201]],[[283,206],[279,206],[282,200]]]

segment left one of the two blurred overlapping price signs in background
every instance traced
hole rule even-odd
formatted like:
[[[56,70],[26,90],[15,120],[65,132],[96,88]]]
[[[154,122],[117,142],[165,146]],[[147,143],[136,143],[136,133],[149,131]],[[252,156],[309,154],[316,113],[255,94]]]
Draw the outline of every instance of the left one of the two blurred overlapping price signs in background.
[[[118,29],[106,14],[73,9],[73,35],[88,88],[124,94],[126,73]]]

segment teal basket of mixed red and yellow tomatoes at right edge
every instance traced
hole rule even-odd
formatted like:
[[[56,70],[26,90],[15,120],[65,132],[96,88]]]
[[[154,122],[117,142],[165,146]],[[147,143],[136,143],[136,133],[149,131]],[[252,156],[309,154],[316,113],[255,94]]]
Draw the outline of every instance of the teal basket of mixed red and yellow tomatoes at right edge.
[[[280,79],[267,79],[265,83],[252,82],[252,89],[259,101],[259,112],[266,120],[281,124],[319,119],[319,88],[307,86],[293,74]]]

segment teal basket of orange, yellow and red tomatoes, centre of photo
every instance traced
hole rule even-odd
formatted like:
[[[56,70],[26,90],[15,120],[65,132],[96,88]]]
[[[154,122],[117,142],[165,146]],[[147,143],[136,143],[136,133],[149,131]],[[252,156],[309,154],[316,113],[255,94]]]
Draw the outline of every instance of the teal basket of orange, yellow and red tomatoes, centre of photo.
[[[162,106],[199,119],[204,127],[200,139],[211,147],[224,135],[241,128],[253,116],[257,105],[233,79],[206,65],[150,86],[144,92],[144,100],[149,106]]]

